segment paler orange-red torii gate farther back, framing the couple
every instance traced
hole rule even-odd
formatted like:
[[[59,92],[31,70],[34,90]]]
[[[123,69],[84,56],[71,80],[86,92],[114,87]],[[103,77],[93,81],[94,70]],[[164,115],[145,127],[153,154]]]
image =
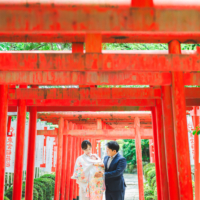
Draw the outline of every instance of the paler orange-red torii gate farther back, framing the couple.
[[[136,154],[137,154],[137,168],[138,168],[138,182],[139,182],[139,191],[140,196],[144,198],[144,189],[143,189],[143,171],[142,171],[142,151],[141,151],[141,139],[152,139],[153,131],[151,130],[151,113],[150,112],[71,112],[71,113],[44,113],[38,114],[38,118],[53,124],[59,124],[58,130],[39,130],[37,131],[38,135],[46,136],[57,136],[63,137],[58,139],[58,151],[57,151],[57,167],[56,167],[56,183],[58,187],[55,188],[55,199],[57,199],[59,191],[61,199],[72,199],[73,191],[76,191],[77,186],[73,185],[72,187],[66,185],[65,191],[65,171],[67,160],[66,160],[66,149],[69,147],[70,142],[69,137],[74,138],[96,138],[96,139],[135,139],[136,140]],[[65,124],[74,123],[77,124],[75,129],[69,127],[60,127],[64,126],[64,123],[60,122],[66,121]],[[123,122],[122,124],[120,122]],[[94,124],[95,123],[95,124]],[[128,125],[128,126],[126,126]],[[121,128],[123,126],[123,128]],[[118,128],[120,127],[120,129]],[[143,127],[143,128],[141,128]],[[81,128],[81,129],[80,129]],[[145,129],[147,128],[147,129]],[[59,130],[62,130],[60,132]],[[60,134],[62,136],[60,136]],[[68,139],[66,139],[66,136]],[[76,139],[79,141],[79,139]],[[76,156],[76,151],[80,152],[80,144],[73,148],[71,156],[72,158]],[[96,152],[96,143],[92,139],[93,152]],[[62,150],[63,148],[63,150]],[[61,155],[63,152],[63,155]],[[62,158],[61,158],[62,157]],[[74,167],[72,162],[72,167]],[[61,175],[61,166],[62,166],[62,175]],[[64,168],[64,169],[63,169]],[[68,168],[69,170],[69,168]],[[73,170],[73,168],[72,168]],[[72,172],[71,172],[72,173]],[[61,178],[62,177],[62,178]],[[69,183],[70,176],[66,177],[66,182]],[[62,183],[62,184],[61,184]],[[61,188],[59,185],[61,184]],[[70,188],[70,192],[67,191]],[[68,196],[66,196],[66,195]],[[71,194],[71,195],[70,195]],[[75,194],[77,194],[75,192]],[[75,196],[74,199],[78,194]]]

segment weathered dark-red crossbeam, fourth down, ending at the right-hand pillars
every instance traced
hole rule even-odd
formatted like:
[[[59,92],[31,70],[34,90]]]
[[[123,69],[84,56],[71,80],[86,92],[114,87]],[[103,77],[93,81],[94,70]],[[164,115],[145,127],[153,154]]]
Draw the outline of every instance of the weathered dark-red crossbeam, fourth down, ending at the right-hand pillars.
[[[200,98],[200,88],[186,88],[186,98]],[[193,93],[197,94],[193,94]],[[187,97],[188,95],[188,97]],[[154,88],[51,88],[10,89],[9,99],[160,99],[160,89]]]

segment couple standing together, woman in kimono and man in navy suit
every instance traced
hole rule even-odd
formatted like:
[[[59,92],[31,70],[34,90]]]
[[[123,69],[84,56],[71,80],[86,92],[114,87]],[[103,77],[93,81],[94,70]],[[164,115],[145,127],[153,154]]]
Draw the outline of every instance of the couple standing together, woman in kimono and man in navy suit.
[[[92,145],[88,140],[81,144],[84,154],[77,158],[72,176],[79,184],[80,200],[102,200],[104,190],[106,200],[124,200],[126,159],[118,153],[117,142],[108,142],[106,146],[108,156],[102,162],[91,153]]]

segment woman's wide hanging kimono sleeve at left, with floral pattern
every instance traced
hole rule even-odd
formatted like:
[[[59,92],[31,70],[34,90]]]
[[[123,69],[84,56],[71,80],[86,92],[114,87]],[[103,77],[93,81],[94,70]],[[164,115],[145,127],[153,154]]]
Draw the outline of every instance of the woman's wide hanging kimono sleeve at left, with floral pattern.
[[[74,167],[74,173],[71,178],[76,179],[77,181],[84,182],[84,183],[88,182],[88,177],[85,174],[84,165],[81,162],[81,159],[79,159],[79,158],[76,160],[76,164]]]

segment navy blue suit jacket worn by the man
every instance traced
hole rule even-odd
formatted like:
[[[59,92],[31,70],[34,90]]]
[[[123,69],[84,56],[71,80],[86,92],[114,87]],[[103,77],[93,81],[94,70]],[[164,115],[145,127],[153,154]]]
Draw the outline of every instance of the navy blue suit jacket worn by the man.
[[[109,169],[107,168],[108,159],[109,156],[104,158],[106,190],[110,192],[124,191],[126,184],[123,173],[126,168],[126,159],[118,153],[113,158]]]

